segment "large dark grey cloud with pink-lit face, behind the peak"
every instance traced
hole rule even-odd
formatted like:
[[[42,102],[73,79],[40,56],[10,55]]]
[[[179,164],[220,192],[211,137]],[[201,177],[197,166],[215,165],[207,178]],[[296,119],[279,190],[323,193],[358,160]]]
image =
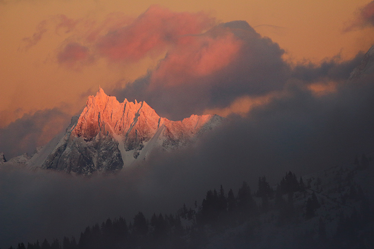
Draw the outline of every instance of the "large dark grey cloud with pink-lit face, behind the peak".
[[[283,53],[246,21],[222,23],[185,36],[155,70],[113,95],[143,99],[160,115],[181,119],[227,106],[239,96],[282,89],[290,73]]]

